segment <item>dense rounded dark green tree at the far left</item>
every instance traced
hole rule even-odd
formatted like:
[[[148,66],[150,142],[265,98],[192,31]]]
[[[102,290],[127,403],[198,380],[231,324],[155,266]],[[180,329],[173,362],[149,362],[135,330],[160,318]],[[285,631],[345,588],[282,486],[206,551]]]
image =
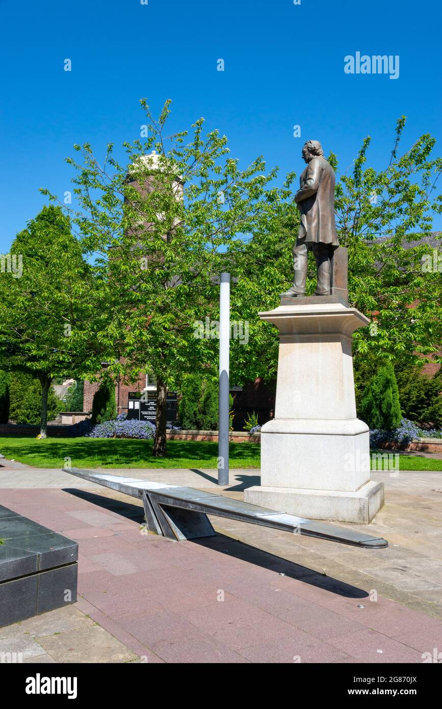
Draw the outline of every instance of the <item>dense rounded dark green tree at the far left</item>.
[[[101,366],[91,332],[100,298],[61,208],[43,207],[18,233],[11,253],[20,255],[23,273],[0,278],[0,365],[40,382],[40,433],[45,438],[52,379],[81,376]]]

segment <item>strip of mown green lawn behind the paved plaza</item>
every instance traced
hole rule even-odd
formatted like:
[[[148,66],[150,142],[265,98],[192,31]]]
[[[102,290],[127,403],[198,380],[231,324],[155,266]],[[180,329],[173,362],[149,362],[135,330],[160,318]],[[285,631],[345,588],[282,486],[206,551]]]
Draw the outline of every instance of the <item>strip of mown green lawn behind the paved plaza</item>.
[[[259,468],[259,449],[258,443],[232,443],[230,467]],[[154,458],[151,451],[152,442],[121,438],[0,437],[0,453],[36,468],[62,468],[65,457],[74,468],[217,468],[217,443],[168,441],[166,458]],[[399,455],[399,469],[442,471],[442,460]]]

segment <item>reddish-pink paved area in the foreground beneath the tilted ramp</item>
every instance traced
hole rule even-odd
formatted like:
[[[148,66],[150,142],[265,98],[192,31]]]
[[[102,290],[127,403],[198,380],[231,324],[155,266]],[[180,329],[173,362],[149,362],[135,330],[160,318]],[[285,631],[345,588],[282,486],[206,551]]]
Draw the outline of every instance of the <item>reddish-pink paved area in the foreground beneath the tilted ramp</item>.
[[[130,498],[3,489],[1,504],[79,542],[78,608],[149,662],[421,663],[442,645],[440,620],[229,537],[144,535]]]

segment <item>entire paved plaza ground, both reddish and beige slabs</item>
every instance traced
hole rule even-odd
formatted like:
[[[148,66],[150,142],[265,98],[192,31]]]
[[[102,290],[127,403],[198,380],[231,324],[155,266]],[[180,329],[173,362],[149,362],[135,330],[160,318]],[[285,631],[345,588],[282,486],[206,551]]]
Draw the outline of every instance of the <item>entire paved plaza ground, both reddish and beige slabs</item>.
[[[135,498],[0,461],[0,503],[79,544],[75,605],[0,629],[28,662],[424,661],[442,648],[442,473],[375,472],[386,503],[357,549],[212,517],[219,535],[146,534]],[[104,472],[212,490],[215,471]],[[242,499],[259,471],[231,471]]]

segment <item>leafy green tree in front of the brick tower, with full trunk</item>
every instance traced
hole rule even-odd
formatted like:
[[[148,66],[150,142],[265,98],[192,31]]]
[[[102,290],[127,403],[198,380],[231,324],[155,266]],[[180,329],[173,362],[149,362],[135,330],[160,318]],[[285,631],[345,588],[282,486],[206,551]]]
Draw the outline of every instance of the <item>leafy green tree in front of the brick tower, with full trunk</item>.
[[[89,144],[75,146],[79,161],[68,161],[79,201],[72,223],[103,255],[97,269],[112,318],[98,340],[113,375],[135,379],[149,362],[157,377],[157,456],[166,454],[167,389],[214,358],[215,341],[200,337],[195,323],[216,317],[217,278],[278,193],[268,189],[276,170],[266,174],[262,158],[239,169],[227,138],[203,133],[203,118],[190,138],[187,131],[166,138],[169,104],[155,120],[142,101],[149,138],[125,143],[128,164],[118,164],[112,145],[103,162]]]

